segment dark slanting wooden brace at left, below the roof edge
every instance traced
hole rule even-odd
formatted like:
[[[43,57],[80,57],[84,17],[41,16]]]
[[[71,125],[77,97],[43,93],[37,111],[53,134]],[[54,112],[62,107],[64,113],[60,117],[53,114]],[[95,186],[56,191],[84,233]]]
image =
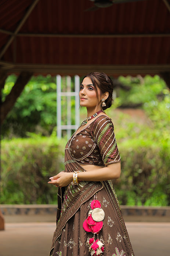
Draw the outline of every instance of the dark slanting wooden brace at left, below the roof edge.
[[[30,80],[32,75],[33,75],[32,72],[22,71],[20,73],[20,75],[18,76],[17,81],[15,82],[10,94],[7,95],[4,102],[1,102],[1,113],[0,113],[1,124],[3,123],[7,114],[11,111],[17,98],[21,94],[23,88],[28,83],[28,81]],[[4,80],[4,82],[5,82],[5,80]]]

